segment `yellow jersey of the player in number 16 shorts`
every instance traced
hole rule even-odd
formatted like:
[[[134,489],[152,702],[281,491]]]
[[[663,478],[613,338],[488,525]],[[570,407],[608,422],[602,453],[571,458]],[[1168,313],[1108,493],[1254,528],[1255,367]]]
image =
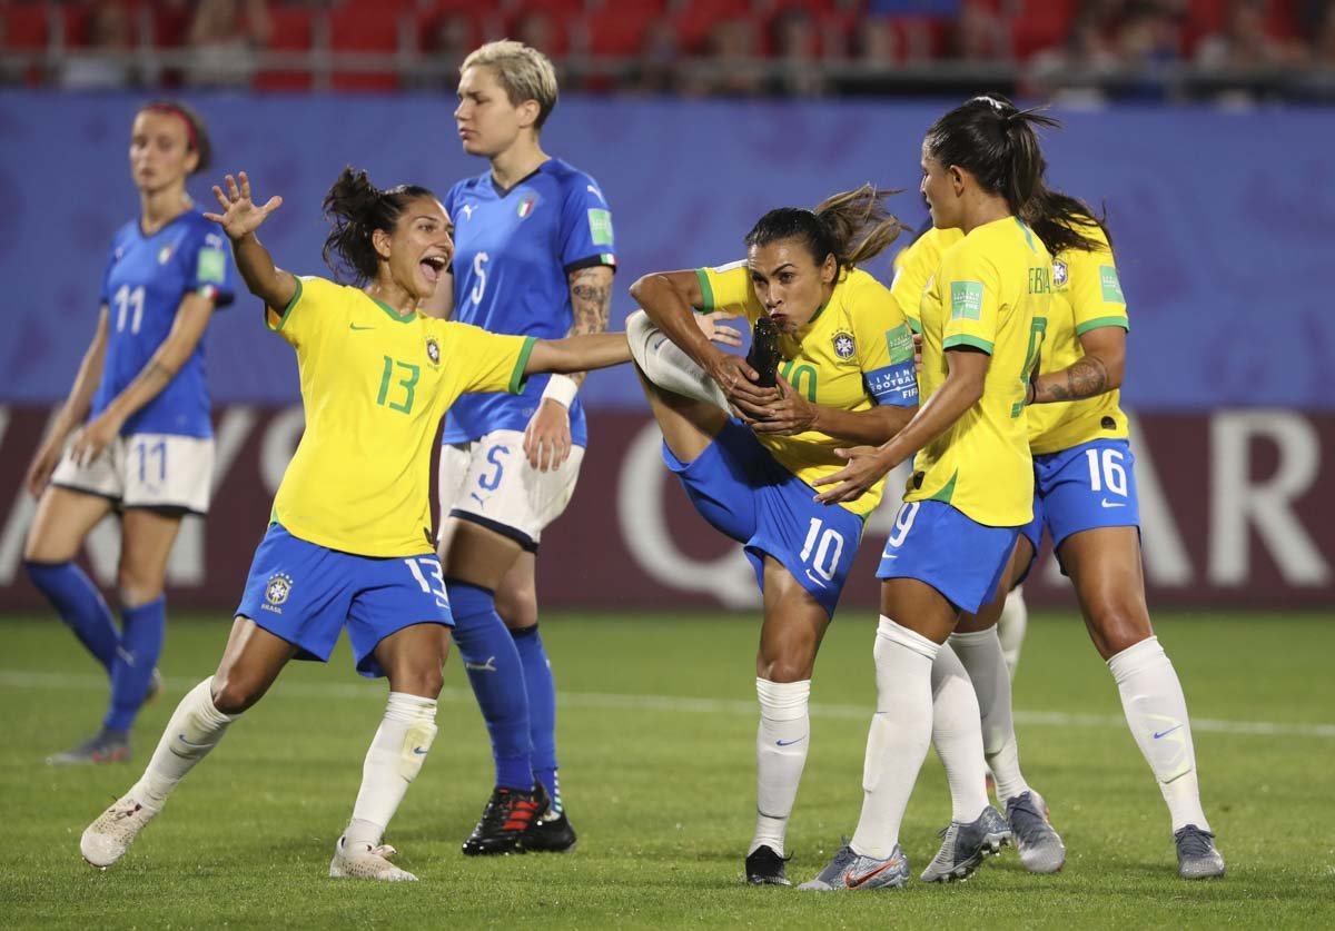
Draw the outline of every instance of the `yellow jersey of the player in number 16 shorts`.
[[[1048,312],[1040,372],[1060,372],[1081,359],[1084,347],[1080,345],[1080,336],[1091,329],[1131,329],[1108,237],[1093,224],[1081,225],[1080,232],[1097,240],[1103,248],[1095,252],[1065,249],[1053,260],[1052,309]],[[1029,448],[1035,455],[1061,452],[1091,440],[1127,436],[1127,415],[1121,412],[1120,391],[1057,404],[1031,404],[1027,416]]]

